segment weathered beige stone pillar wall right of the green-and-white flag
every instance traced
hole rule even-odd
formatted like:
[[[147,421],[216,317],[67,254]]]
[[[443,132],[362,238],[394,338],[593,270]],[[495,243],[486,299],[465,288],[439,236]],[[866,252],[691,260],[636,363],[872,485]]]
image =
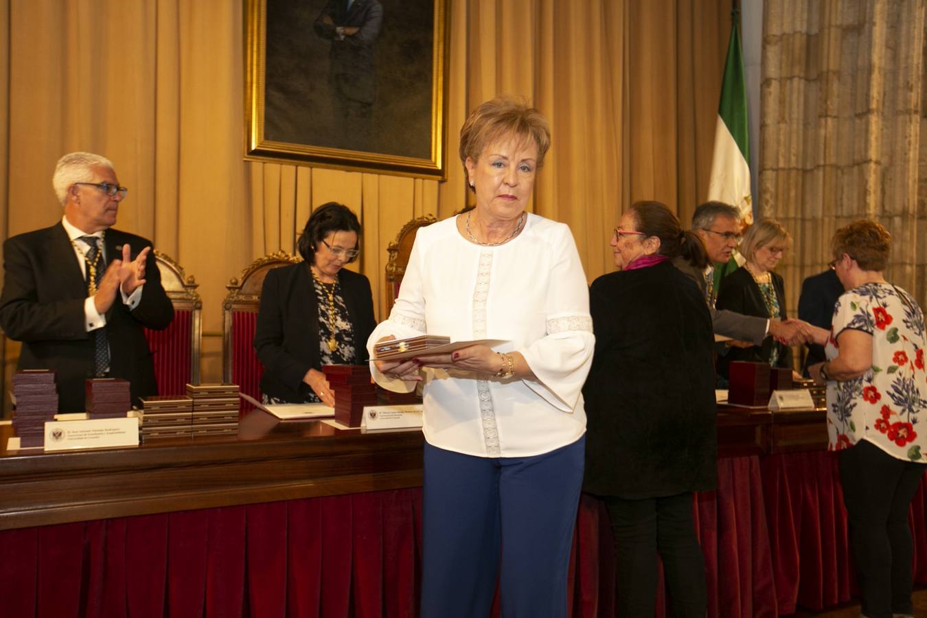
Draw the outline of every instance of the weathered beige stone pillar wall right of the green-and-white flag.
[[[888,280],[927,306],[924,5],[766,1],[760,193],[794,236],[793,312],[834,231],[863,217],[892,233]]]

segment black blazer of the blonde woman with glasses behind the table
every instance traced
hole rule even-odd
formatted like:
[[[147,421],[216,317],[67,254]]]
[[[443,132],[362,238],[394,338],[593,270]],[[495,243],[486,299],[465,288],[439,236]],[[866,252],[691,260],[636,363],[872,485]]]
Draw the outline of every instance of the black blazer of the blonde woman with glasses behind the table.
[[[772,289],[779,299],[781,319],[787,319],[785,311],[785,284],[780,274],[772,272]],[[763,295],[759,285],[754,281],[753,275],[743,266],[731,272],[721,280],[721,289],[717,293],[717,309],[728,309],[745,315],[754,315],[759,318],[772,318],[766,309]],[[750,360],[754,362],[768,362],[772,347],[779,348],[779,361],[777,367],[794,369],[792,348],[768,336],[763,340],[762,346],[730,347],[727,354],[717,358],[717,372],[728,377],[728,366],[733,360]]]

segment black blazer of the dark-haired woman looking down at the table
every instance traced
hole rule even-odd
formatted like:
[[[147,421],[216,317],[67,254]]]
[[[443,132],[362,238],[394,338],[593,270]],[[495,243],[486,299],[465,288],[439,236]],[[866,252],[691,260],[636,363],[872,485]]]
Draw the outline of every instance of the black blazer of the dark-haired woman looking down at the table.
[[[367,360],[367,339],[374,332],[374,296],[362,274],[338,271],[341,296],[354,330],[354,363]],[[260,292],[254,348],[264,366],[260,391],[293,403],[306,400],[310,369],[322,369],[319,308],[309,264],[299,262],[268,271]]]

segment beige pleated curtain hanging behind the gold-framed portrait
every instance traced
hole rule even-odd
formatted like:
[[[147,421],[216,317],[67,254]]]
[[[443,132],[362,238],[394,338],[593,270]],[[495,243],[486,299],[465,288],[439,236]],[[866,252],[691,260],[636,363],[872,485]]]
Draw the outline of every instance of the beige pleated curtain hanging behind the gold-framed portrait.
[[[491,96],[523,96],[551,120],[533,209],[570,225],[590,281],[613,268],[610,231],[632,201],[688,219],[705,198],[730,0],[451,2],[446,183],[244,161],[242,5],[0,0],[0,234],[61,217],[50,177],[63,153],[112,159],[130,187],[119,227],[200,284],[205,381],[221,376],[225,284],[294,252],[326,201],[360,215],[352,268],[384,317],[386,246],[413,217],[464,207],[457,134]],[[6,346],[7,374],[17,354]]]

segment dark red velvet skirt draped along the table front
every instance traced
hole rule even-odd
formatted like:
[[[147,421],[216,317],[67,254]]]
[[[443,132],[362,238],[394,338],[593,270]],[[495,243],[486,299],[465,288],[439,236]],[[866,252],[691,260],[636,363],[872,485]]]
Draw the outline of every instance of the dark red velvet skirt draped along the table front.
[[[693,509],[709,616],[775,616],[852,591],[846,516],[826,453],[726,458]],[[927,491],[911,508],[927,582]],[[574,617],[612,616],[603,503],[583,496],[570,565]],[[65,523],[0,532],[9,616],[414,616],[418,488]],[[662,591],[659,615],[665,614]]]

